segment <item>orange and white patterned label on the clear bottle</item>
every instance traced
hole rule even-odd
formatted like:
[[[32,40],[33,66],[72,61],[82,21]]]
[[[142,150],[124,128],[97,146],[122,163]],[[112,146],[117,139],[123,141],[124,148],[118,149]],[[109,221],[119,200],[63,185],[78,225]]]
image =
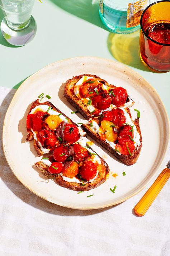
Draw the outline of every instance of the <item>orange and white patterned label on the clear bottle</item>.
[[[147,0],[129,3],[127,9],[126,27],[135,27],[140,24],[141,14],[146,7]]]

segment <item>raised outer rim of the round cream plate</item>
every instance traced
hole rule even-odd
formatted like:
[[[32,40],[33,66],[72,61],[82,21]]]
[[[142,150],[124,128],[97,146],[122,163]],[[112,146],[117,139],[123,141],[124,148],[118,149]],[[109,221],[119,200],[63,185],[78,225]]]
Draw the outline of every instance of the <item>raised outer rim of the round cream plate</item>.
[[[109,203],[109,204],[106,204],[106,205],[101,205],[101,206],[94,206],[94,207],[74,207],[73,205],[64,205],[64,204],[61,204],[61,203],[56,203],[56,202],[53,202],[52,200],[49,200],[48,198],[46,197],[43,197],[41,194],[37,193],[35,190],[33,190],[32,188],[30,188],[27,184],[24,183],[24,181],[22,181],[22,179],[20,179],[16,174],[15,174],[15,169],[13,168],[13,165],[11,164],[10,162],[10,158],[8,157],[8,154],[5,152],[5,147],[6,147],[6,141],[5,141],[5,136],[4,136],[4,130],[5,130],[5,127],[8,125],[7,123],[7,117],[9,115],[9,112],[10,112],[10,108],[11,108],[11,105],[15,102],[15,99],[18,97],[18,94],[20,92],[20,89],[24,87],[25,85],[25,82],[32,76],[36,75],[38,72],[42,72],[43,69],[46,69],[47,67],[49,66],[53,66],[54,64],[58,63],[62,63],[62,62],[66,62],[66,61],[69,61],[69,60],[75,60],[75,59],[79,59],[79,60],[83,60],[84,58],[89,58],[90,61],[91,59],[95,59],[95,60],[98,60],[99,62],[101,62],[102,60],[104,61],[108,61],[110,63],[114,63],[118,66],[120,66],[121,68],[124,69],[124,71],[128,71],[130,73],[132,73],[134,76],[138,76],[140,78],[143,79],[143,81],[145,82],[145,84],[147,84],[147,87],[150,87],[150,89],[152,90],[152,93],[156,95],[156,97],[159,99],[159,101],[161,102],[161,109],[162,109],[162,113],[164,113],[164,118],[166,120],[166,142],[165,142],[165,145],[164,145],[164,155],[162,156],[161,158],[161,161],[159,162],[159,164],[157,165],[156,169],[155,169],[155,172],[150,176],[150,178],[147,179],[147,181],[145,182],[145,184],[139,188],[136,192],[134,192],[133,194],[131,194],[130,196],[126,196],[126,197],[123,197],[117,201],[115,201],[114,203]],[[146,85],[145,85],[146,86]],[[35,72],[33,75],[29,76],[21,85],[20,87],[16,90],[16,93],[14,94],[13,96],[13,99],[11,100],[11,103],[8,107],[8,110],[6,111],[6,114],[5,114],[5,118],[4,118],[4,125],[3,125],[3,150],[4,150],[4,155],[5,155],[5,158],[6,158],[6,161],[8,162],[8,165],[10,167],[10,169],[13,171],[13,174],[16,176],[16,178],[26,187],[28,188],[31,192],[33,192],[34,194],[36,194],[38,197],[41,197],[49,202],[52,202],[52,203],[55,203],[56,205],[59,205],[59,206],[63,206],[63,207],[66,207],[66,208],[72,208],[72,209],[77,209],[77,210],[93,210],[93,209],[100,209],[100,208],[105,208],[105,207],[109,207],[109,206],[114,206],[114,205],[117,205],[121,202],[124,202],[126,201],[127,199],[135,196],[136,194],[138,194],[142,189],[144,189],[148,183],[150,183],[150,181],[152,179],[154,179],[154,177],[156,176],[157,172],[159,171],[160,169],[160,166],[162,165],[162,162],[164,161],[164,158],[166,156],[166,152],[167,152],[167,148],[168,148],[168,144],[169,144],[169,139],[170,139],[170,126],[169,126],[169,118],[167,116],[167,112],[166,112],[166,109],[165,109],[165,106],[164,106],[164,103],[162,102],[159,94],[157,93],[157,91],[155,90],[154,87],[152,87],[145,78],[143,78],[140,74],[138,74],[137,72],[135,72],[133,69],[125,66],[124,64],[122,63],[119,63],[119,62],[115,62],[114,60],[110,60],[110,59],[106,59],[106,58],[101,58],[101,57],[90,57],[90,56],[82,56],[82,57],[74,57],[74,58],[67,58],[67,59],[63,59],[63,60],[59,60],[57,62],[54,62],[54,63],[51,63],[47,66],[45,66],[44,68],[40,69],[39,71]]]

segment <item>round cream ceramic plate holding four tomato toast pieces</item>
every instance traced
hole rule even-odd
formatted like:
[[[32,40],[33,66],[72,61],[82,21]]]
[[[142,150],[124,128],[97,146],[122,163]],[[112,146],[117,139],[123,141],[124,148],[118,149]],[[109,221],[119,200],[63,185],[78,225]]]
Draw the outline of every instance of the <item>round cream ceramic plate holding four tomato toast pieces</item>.
[[[133,119],[139,109],[143,146],[138,161],[126,166],[114,158],[97,143],[92,145],[110,167],[109,179],[98,188],[88,192],[77,192],[62,188],[53,180],[45,180],[34,166],[41,157],[36,156],[32,142],[25,142],[27,131],[25,120],[31,103],[38,95],[51,95],[50,101],[74,122],[85,122],[80,114],[71,114],[75,108],[63,96],[65,82],[72,76],[91,73],[107,80],[110,84],[127,89],[135,101],[131,108]],[[44,97],[43,99],[48,100]],[[92,140],[88,137],[89,140]],[[76,208],[102,208],[123,202],[134,196],[156,174],[164,159],[169,140],[169,122],[164,105],[153,87],[132,69],[108,59],[78,57],[51,64],[30,76],[16,91],[6,113],[3,130],[5,157],[11,170],[20,182],[37,194],[57,205]],[[126,176],[122,172],[126,172]],[[112,174],[117,173],[114,178]],[[114,188],[113,194],[109,188]],[[87,197],[94,194],[92,197]]]

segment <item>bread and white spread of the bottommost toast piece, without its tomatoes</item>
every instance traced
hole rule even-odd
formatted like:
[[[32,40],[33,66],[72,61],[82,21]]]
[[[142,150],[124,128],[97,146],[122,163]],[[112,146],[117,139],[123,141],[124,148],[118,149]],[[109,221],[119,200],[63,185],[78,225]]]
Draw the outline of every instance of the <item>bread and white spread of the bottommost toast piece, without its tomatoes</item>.
[[[84,138],[80,139],[83,140]],[[79,141],[78,141],[79,142]],[[49,165],[51,163],[49,163],[49,165],[43,163],[43,160],[37,162],[35,165],[38,167],[38,169],[42,172],[42,174],[47,178],[47,179],[55,179],[56,182],[61,186],[61,187],[65,187],[65,188],[69,188],[75,191],[88,191],[90,189],[96,188],[99,185],[101,185],[102,183],[105,182],[105,180],[107,179],[107,174],[109,173],[109,166],[107,165],[107,163],[98,155],[96,154],[89,146],[88,144],[86,144],[87,149],[90,152],[93,152],[93,154],[95,154],[95,156],[97,156],[100,159],[100,165],[98,165],[97,169],[98,172],[95,176],[95,178],[93,180],[90,181],[82,181],[78,178],[80,178],[79,175],[77,175],[76,177],[73,178],[74,181],[72,181],[72,178],[64,178],[65,176],[62,175],[62,173],[60,174],[51,174],[48,171]],[[91,157],[94,157],[94,155],[92,155]],[[89,158],[91,158],[89,156]],[[79,167],[81,166],[82,163],[79,163]],[[75,182],[75,180],[77,180],[77,182]]]

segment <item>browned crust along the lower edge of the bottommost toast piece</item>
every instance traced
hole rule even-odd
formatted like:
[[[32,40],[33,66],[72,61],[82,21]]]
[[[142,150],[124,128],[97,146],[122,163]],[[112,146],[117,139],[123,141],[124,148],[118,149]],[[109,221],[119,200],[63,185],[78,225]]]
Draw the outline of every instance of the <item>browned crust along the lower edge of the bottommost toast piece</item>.
[[[109,173],[109,166],[108,164],[101,158],[99,155],[98,157],[100,158],[101,165],[104,166],[104,172],[103,174],[98,175],[92,182],[86,183],[85,185],[82,186],[81,183],[76,183],[76,182],[68,182],[66,180],[63,180],[62,176],[60,174],[50,174],[48,172],[48,166],[45,165],[42,162],[37,162],[35,165],[38,167],[38,169],[42,172],[42,174],[47,178],[47,179],[54,179],[56,178],[57,183],[64,188],[70,188],[75,191],[88,191],[90,189],[96,188],[104,181],[106,180],[107,174]]]

